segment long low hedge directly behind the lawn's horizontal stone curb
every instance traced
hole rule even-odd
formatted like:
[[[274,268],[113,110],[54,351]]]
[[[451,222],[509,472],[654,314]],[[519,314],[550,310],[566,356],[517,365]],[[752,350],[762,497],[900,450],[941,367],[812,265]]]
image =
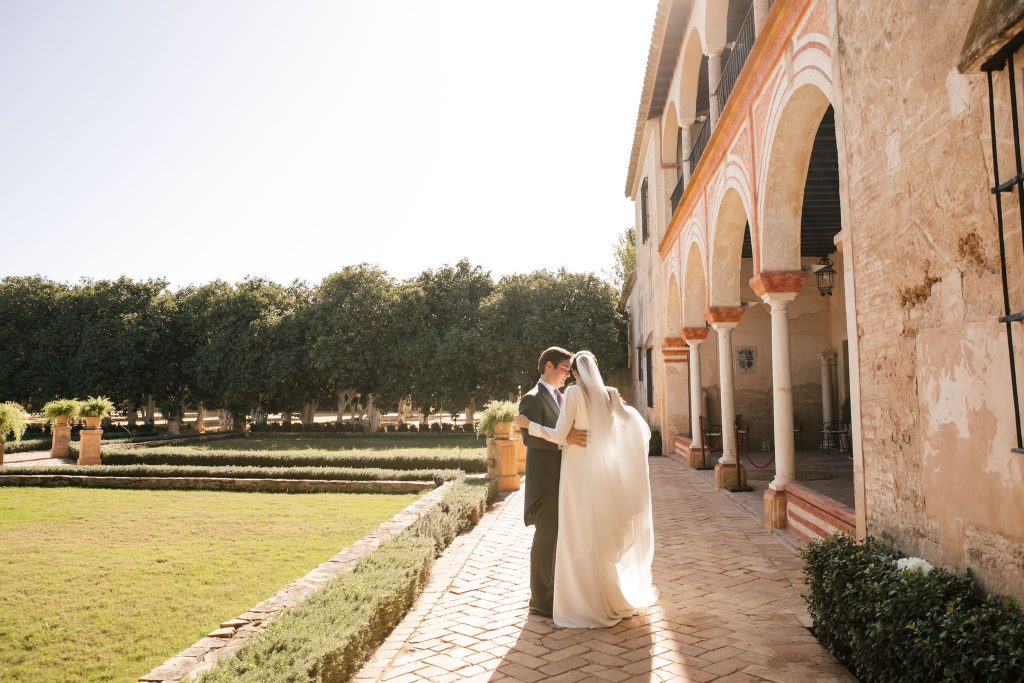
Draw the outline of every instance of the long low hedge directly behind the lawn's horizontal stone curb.
[[[10,474],[68,474],[99,477],[220,477],[225,479],[328,479],[332,481],[450,481],[460,470],[387,470],[352,467],[187,467],[180,465],[57,465],[4,467]]]

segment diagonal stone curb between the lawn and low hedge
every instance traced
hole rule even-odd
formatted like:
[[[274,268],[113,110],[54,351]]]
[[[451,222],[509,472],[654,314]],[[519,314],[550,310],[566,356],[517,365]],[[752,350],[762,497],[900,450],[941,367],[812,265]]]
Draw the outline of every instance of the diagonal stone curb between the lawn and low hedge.
[[[232,656],[253,634],[261,631],[281,610],[294,607],[324,588],[336,575],[350,571],[359,559],[372,553],[385,541],[408,529],[424,514],[440,505],[441,499],[451,487],[452,482],[446,482],[427,494],[305,577],[292,582],[272,597],[238,617],[221,623],[220,628],[211,631],[205,638],[201,638],[148,674],[139,677],[139,683],[182,681],[209,671],[220,659]]]

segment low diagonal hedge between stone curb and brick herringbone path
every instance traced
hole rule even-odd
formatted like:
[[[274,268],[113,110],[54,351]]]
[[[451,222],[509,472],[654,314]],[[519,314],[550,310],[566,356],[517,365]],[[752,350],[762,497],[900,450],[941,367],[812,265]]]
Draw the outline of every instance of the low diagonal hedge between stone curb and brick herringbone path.
[[[198,681],[348,681],[413,606],[450,530],[471,528],[497,490],[494,480],[457,482],[437,508]]]

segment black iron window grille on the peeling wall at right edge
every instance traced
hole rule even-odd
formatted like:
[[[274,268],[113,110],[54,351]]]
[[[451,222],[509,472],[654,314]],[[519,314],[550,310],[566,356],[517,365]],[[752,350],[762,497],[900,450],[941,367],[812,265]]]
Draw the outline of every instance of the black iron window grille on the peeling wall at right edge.
[[[995,196],[995,218],[999,238],[999,266],[1002,276],[1002,312],[998,318],[999,323],[1007,329],[1007,347],[1010,353],[1010,385],[1014,398],[1014,420],[1017,427],[1017,447],[1014,453],[1024,455],[1024,440],[1021,435],[1021,404],[1017,381],[1017,361],[1014,354],[1014,324],[1024,321],[1024,310],[1011,310],[1009,276],[1007,273],[1007,240],[1005,230],[1005,220],[1002,216],[1002,196],[1006,193],[1016,193],[1018,202],[1018,218],[1021,222],[1021,247],[1024,249],[1024,164],[1021,162],[1021,136],[1020,136],[1020,115],[1018,112],[1017,99],[1017,76],[1014,67],[1014,50],[1020,46],[1020,40],[1013,41],[1013,45],[1008,46],[1000,54],[993,57],[982,67],[988,78],[988,121],[992,137],[992,185],[991,193]],[[993,84],[993,74],[1007,70],[1008,89],[1010,95],[1010,119],[1012,124],[1012,142],[1014,151],[1014,163],[1016,175],[999,179],[999,153],[996,140],[998,134],[995,127],[995,88]]]

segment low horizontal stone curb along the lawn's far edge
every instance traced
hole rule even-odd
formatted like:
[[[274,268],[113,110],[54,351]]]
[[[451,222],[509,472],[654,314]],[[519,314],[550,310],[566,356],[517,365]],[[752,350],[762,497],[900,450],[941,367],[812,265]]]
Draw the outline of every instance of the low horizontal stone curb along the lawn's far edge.
[[[128,477],[88,474],[0,474],[0,486],[82,486],[85,488],[145,488],[249,490],[270,493],[418,494],[433,481],[351,479],[228,479],[223,477]]]

